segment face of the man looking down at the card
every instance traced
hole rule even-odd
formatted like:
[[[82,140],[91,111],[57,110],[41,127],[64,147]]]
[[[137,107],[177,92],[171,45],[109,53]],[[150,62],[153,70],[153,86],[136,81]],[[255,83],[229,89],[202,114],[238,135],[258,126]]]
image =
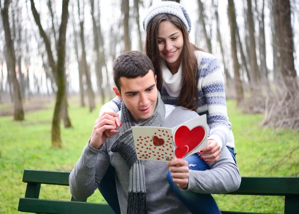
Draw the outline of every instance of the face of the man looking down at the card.
[[[144,77],[120,78],[121,93],[114,88],[116,95],[125,102],[134,122],[149,119],[157,102],[156,76],[152,70]]]

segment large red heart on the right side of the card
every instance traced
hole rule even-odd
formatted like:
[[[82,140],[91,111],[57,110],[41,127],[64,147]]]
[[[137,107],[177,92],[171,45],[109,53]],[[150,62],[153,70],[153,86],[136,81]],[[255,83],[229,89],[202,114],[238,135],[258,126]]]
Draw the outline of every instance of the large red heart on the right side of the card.
[[[177,147],[188,146],[188,152],[197,147],[205,136],[205,129],[202,126],[196,126],[191,131],[187,126],[179,127],[174,134],[174,142]]]

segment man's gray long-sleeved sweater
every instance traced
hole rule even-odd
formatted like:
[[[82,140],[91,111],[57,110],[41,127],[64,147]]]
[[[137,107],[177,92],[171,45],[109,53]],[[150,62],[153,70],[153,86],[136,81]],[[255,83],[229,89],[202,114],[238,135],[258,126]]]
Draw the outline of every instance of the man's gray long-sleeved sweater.
[[[196,112],[175,107],[165,118],[163,127],[172,128],[194,117],[198,117]],[[69,184],[71,194],[76,200],[87,198],[97,189],[111,164],[116,169],[116,188],[121,212],[126,214],[129,168],[119,153],[111,152],[111,147],[117,138],[118,134],[107,139],[99,150],[87,144],[70,174]],[[223,194],[239,188],[241,183],[240,172],[226,147],[222,148],[219,160],[215,163],[208,163],[208,165],[210,170],[190,170],[188,189],[182,191]],[[164,162],[145,160],[148,213],[190,214],[189,210],[170,189],[166,179],[168,170],[169,168]]]

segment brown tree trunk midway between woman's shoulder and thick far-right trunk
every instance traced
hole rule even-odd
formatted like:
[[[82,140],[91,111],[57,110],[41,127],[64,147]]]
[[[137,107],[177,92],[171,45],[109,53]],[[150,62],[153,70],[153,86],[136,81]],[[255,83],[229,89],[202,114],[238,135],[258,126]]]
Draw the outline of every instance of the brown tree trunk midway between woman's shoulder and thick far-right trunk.
[[[236,12],[235,5],[233,0],[228,0],[228,18],[231,32],[231,48],[232,48],[232,57],[234,64],[234,82],[237,95],[237,106],[240,106],[243,103],[243,87],[240,79],[240,65],[237,56],[237,46],[236,46]]]

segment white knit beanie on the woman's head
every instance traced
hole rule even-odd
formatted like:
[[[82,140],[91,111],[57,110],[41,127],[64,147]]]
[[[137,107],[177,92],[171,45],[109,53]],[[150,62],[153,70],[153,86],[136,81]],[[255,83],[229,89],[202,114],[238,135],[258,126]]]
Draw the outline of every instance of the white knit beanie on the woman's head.
[[[188,32],[191,31],[191,20],[186,9],[174,1],[161,1],[149,7],[149,12],[143,21],[144,30],[147,32],[150,20],[162,13],[168,13],[177,16],[185,24]]]

